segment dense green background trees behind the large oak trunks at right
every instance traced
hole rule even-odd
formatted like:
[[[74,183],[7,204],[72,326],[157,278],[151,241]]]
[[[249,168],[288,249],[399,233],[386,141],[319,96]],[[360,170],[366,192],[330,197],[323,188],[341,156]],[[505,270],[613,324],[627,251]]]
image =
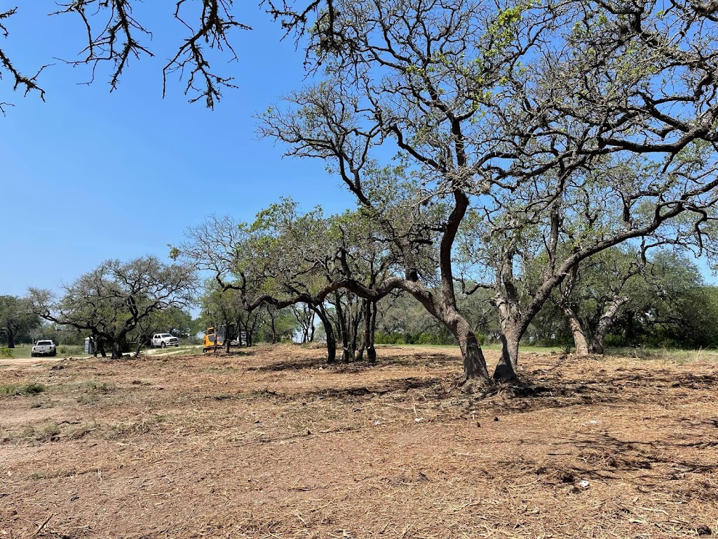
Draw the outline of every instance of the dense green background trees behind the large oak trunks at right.
[[[500,320],[486,291],[460,295],[480,344],[500,341]],[[454,337],[401,295],[379,303],[376,341],[455,344]],[[603,354],[607,346],[718,346],[718,287],[706,285],[684,253],[659,251],[643,262],[623,249],[592,259],[556,290],[523,336],[524,344]]]

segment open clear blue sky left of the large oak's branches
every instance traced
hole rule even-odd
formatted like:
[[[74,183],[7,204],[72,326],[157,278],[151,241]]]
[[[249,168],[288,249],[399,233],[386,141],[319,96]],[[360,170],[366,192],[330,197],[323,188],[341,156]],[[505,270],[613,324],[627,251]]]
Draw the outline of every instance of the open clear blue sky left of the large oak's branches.
[[[248,221],[282,195],[305,209],[352,203],[321,162],[282,159],[282,147],[256,137],[253,114],[307,81],[302,54],[255,3],[236,2],[254,29],[234,35],[237,63],[213,65],[239,86],[214,111],[187,103],[176,80],[162,99],[162,66],[182,36],[174,1],[141,4],[157,57],[134,60],[113,93],[108,66],[85,86],[87,68],[53,60],[82,47],[79,19],[47,17],[54,1],[17,4],[0,46],[25,73],[55,65],[40,78],[45,103],[0,80],[0,101],[15,105],[0,116],[0,294],[57,289],[109,258],[164,258],[210,213]]]

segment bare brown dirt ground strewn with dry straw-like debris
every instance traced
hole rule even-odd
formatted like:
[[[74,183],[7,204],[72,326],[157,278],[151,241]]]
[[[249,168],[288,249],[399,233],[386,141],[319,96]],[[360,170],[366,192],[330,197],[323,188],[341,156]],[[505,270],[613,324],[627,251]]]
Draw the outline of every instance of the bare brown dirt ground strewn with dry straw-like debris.
[[[0,539],[718,533],[714,362],[526,354],[467,395],[457,352],[379,352],[0,369],[45,386],[0,395]]]

